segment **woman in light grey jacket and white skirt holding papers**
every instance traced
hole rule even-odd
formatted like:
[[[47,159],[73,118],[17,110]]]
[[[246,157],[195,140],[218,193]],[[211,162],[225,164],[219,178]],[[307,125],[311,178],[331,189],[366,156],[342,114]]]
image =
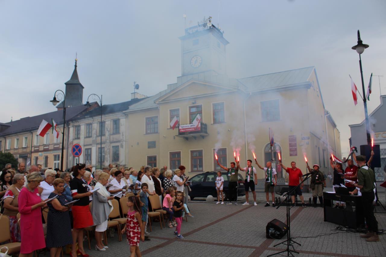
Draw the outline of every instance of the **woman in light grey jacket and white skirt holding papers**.
[[[113,204],[111,202],[114,196],[110,196],[110,193],[105,188],[108,183],[108,174],[103,172],[99,175],[98,182],[95,184],[95,189],[98,189],[93,193],[93,204],[91,205],[91,213],[93,215],[93,221],[95,227],[95,250],[105,251],[108,247],[103,245],[102,233],[107,229],[108,215],[113,210]]]

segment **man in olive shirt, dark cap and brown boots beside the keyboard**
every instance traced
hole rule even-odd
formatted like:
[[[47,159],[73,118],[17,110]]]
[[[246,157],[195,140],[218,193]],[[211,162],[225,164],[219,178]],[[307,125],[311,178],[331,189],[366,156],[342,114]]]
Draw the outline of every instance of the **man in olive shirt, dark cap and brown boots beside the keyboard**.
[[[366,166],[366,156],[357,156],[357,164],[359,170],[357,173],[358,183],[351,181],[353,186],[356,186],[361,190],[362,203],[364,209],[364,217],[367,224],[367,233],[361,234],[360,237],[366,238],[368,242],[378,242],[378,221],[376,220],[373,212],[372,201],[374,201],[375,194],[373,189],[375,188],[375,173],[374,171]]]

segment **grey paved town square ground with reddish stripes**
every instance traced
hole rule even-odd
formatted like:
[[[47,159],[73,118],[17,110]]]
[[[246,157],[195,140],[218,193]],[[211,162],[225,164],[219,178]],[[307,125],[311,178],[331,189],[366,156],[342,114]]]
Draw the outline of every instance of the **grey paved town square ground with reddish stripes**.
[[[326,190],[328,191],[328,189]],[[264,200],[264,193],[257,194]],[[277,218],[286,220],[286,208],[264,207],[265,201],[257,206],[215,205],[202,201],[191,201],[189,207],[194,218],[183,221],[181,233],[185,239],[177,239],[173,228],[161,228],[153,223],[151,241],[140,243],[143,256],[267,256],[280,250],[284,245],[273,247],[286,239],[267,239],[266,225]],[[378,207],[378,211],[381,208]],[[383,211],[383,210],[382,210]],[[385,211],[383,211],[385,212]],[[337,225],[323,221],[323,209],[313,207],[291,208],[291,236],[301,246],[295,245],[300,254],[295,256],[385,256],[386,237],[380,235],[380,242],[366,242],[358,233],[337,231]],[[386,228],[386,213],[376,213],[379,229]],[[320,234],[330,234],[318,236]],[[129,256],[129,245],[123,237],[118,242],[108,238],[107,251],[98,252],[92,238],[90,256]],[[85,242],[86,243],[86,242]],[[86,247],[86,244],[85,244]],[[286,254],[283,254],[286,256]],[[283,256],[282,255],[282,256]]]

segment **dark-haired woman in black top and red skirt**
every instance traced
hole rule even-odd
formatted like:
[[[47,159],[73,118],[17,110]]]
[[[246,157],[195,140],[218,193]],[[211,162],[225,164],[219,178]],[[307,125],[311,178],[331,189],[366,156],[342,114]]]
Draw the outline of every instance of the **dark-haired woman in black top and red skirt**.
[[[93,225],[93,217],[91,216],[89,196],[93,193],[88,191],[88,184],[83,179],[86,169],[85,164],[76,164],[73,171],[74,178],[70,182],[71,195],[73,200],[79,200],[72,207],[74,219],[74,229],[72,232],[73,244],[71,249],[71,257],[76,257],[77,253],[83,257],[89,255],[83,249],[83,228]],[[78,242],[78,252],[76,252],[76,242]]]

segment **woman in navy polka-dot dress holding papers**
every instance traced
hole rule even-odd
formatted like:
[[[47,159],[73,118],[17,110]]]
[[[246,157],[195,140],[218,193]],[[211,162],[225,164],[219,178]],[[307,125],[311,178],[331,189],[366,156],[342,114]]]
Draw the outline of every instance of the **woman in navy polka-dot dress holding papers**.
[[[46,247],[50,249],[51,257],[59,257],[63,246],[73,243],[71,235],[71,221],[68,211],[71,205],[68,205],[69,200],[64,191],[64,180],[57,178],[52,182],[54,191],[48,196],[49,208],[47,215],[47,237]],[[67,205],[66,205],[67,204]]]

